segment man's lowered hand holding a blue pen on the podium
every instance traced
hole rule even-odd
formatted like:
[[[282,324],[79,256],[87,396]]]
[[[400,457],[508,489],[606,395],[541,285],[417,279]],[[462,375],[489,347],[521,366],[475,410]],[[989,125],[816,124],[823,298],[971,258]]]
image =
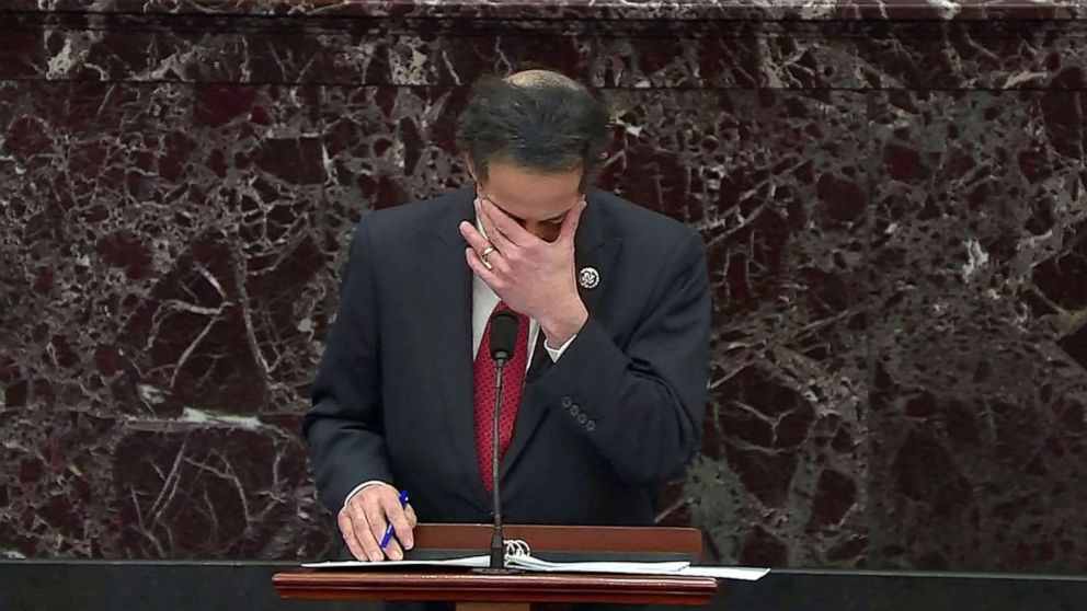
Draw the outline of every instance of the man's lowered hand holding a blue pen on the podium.
[[[415,510],[400,506],[400,493],[388,484],[373,484],[356,492],[336,518],[344,542],[355,560],[403,560],[404,550],[414,545]],[[389,523],[396,534],[382,550],[381,539]]]

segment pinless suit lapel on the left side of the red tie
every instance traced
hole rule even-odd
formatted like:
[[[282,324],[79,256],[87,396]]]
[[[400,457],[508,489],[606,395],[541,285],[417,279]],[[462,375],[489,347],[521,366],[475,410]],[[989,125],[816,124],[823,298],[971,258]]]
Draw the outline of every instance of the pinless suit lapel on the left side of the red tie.
[[[447,211],[439,215],[436,227],[424,243],[430,256],[424,273],[428,274],[430,295],[425,319],[432,325],[426,337],[434,341],[434,367],[438,371],[440,388],[436,402],[447,420],[449,441],[455,460],[462,465],[461,489],[479,488],[477,500],[482,502],[483,488],[476,460],[476,411],[472,389],[472,276],[465,263],[465,240],[457,227],[461,220],[472,221],[472,192],[455,200]]]

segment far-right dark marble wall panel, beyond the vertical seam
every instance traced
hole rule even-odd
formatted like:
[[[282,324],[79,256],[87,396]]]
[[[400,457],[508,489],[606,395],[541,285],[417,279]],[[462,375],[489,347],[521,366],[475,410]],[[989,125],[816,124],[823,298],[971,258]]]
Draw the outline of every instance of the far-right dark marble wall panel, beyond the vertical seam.
[[[1084,94],[877,101],[870,562],[1083,570]]]

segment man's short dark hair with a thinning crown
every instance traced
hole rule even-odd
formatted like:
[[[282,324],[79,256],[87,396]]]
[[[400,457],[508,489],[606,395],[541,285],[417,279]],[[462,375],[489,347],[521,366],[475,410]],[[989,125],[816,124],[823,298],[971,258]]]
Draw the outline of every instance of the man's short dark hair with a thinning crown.
[[[476,177],[500,161],[550,173],[581,169],[586,184],[610,140],[608,111],[576,81],[548,70],[481,79],[457,124]]]

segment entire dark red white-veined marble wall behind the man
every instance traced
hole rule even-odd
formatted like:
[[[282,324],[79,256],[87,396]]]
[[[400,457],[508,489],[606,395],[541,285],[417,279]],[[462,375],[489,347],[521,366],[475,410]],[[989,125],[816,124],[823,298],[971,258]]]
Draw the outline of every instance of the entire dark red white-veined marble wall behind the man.
[[[297,557],[353,223],[464,182],[485,73],[603,88],[697,227],[724,562],[1087,570],[1075,2],[0,9],[0,555]],[[939,8],[942,7],[942,8]]]

